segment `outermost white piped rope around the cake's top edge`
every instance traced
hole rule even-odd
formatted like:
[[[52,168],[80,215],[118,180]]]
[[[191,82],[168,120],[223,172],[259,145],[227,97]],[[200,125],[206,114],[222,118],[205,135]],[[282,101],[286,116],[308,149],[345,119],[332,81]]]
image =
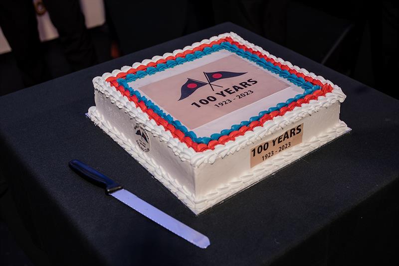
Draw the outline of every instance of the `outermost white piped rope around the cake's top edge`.
[[[129,112],[133,116],[138,116],[136,119],[139,123],[142,123],[147,130],[151,131],[155,135],[161,135],[161,139],[168,141],[168,146],[171,147],[174,153],[182,160],[190,160],[191,164],[194,166],[199,166],[201,163],[213,163],[217,157],[223,158],[226,154],[232,154],[235,151],[239,150],[241,147],[244,147],[250,143],[252,143],[257,138],[261,138],[264,135],[271,134],[280,129],[280,124],[282,120],[288,121],[287,123],[293,123],[296,120],[302,118],[304,115],[307,115],[307,112],[317,112],[317,110],[323,106],[328,107],[334,104],[336,101],[343,102],[345,100],[345,95],[342,93],[341,88],[337,85],[332,84],[330,81],[325,80],[321,76],[316,76],[313,73],[309,73],[305,69],[300,69],[297,66],[293,66],[290,62],[283,61],[281,58],[276,58],[273,55],[270,55],[268,52],[264,51],[259,46],[255,46],[241,37],[236,35],[235,33],[224,33],[219,35],[218,37],[212,37],[209,40],[203,40],[200,43],[194,43],[193,46],[186,46],[184,50],[176,50],[173,54],[166,53],[163,57],[155,56],[152,60],[144,60],[142,63],[135,63],[133,68],[140,68],[140,66],[144,66],[144,64],[151,65],[155,64],[158,60],[162,58],[168,58],[171,55],[183,54],[185,50],[193,50],[196,46],[202,44],[209,44],[213,41],[217,40],[217,38],[225,38],[231,37],[234,41],[239,43],[239,45],[245,45],[250,47],[253,51],[257,51],[259,53],[267,55],[269,58],[273,59],[274,62],[280,64],[283,68],[284,66],[289,67],[293,71],[295,71],[296,75],[302,75],[305,80],[315,83],[324,84],[323,87],[328,89],[324,97],[318,97],[316,100],[307,99],[303,101],[300,107],[294,107],[291,112],[285,111],[285,113],[280,114],[279,111],[272,112],[270,114],[271,120],[266,121],[263,126],[254,127],[253,131],[244,131],[243,133],[238,132],[236,135],[233,135],[233,140],[231,138],[226,138],[219,143],[211,143],[209,145],[213,145],[213,149],[207,149],[203,152],[198,152],[198,150],[203,150],[200,147],[201,144],[194,149],[192,146],[187,145],[187,142],[181,141],[181,135],[179,136],[176,132],[171,128],[165,129],[162,123],[157,123],[153,117],[147,113],[144,113],[141,108],[137,108],[137,106],[130,102],[126,95],[122,95],[115,87],[111,86],[110,82],[106,81],[109,77],[115,76],[118,77],[122,71],[129,71],[131,67],[123,67],[121,70],[114,70],[111,73],[105,73],[102,77],[96,77],[93,79],[93,84],[96,90],[105,94],[107,97],[111,97],[113,103],[116,103],[119,108],[124,108],[125,112]],[[305,76],[306,75],[306,76]],[[312,79],[312,80],[310,80]],[[309,106],[310,105],[310,106]],[[283,109],[282,109],[283,110]],[[283,110],[284,111],[284,110]],[[276,115],[283,116],[276,116]],[[283,118],[284,117],[284,118]],[[291,122],[289,122],[291,121]],[[246,129],[245,129],[246,130]],[[186,140],[186,139],[184,139]],[[207,146],[203,144],[206,148]]]

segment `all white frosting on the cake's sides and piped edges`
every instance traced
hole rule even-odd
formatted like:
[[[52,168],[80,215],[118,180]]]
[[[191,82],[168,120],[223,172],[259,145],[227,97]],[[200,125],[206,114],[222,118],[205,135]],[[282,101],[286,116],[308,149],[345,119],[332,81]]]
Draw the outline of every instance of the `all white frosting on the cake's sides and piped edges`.
[[[224,37],[231,37],[323,84],[328,83],[333,87],[333,91],[308,104],[302,104],[301,107],[296,107],[283,116],[274,117],[263,126],[255,127],[253,131],[235,137],[235,140],[216,145],[213,150],[196,152],[175,138],[170,131],[166,131],[163,126],[157,125],[146,113],[136,108],[133,102],[130,102],[126,96],[122,96],[106,81],[108,77],[126,72],[131,67],[125,66],[121,70],[114,70],[112,73],[105,73],[102,77],[93,79],[96,107],[89,109],[90,119],[196,214],[350,130],[339,120],[340,102],[343,102],[346,97],[341,88],[323,77],[270,55],[232,32],[202,40],[192,46],[186,46],[183,50],[175,50],[173,53],[146,59],[141,63],[133,64],[133,67],[156,62]],[[304,124],[305,129],[302,143],[279,152],[253,168],[250,167],[249,150],[254,145],[273,139],[290,127],[301,123]],[[148,153],[142,151],[134,141],[136,136],[132,127],[136,124],[141,124],[151,133],[149,135],[152,145]]]

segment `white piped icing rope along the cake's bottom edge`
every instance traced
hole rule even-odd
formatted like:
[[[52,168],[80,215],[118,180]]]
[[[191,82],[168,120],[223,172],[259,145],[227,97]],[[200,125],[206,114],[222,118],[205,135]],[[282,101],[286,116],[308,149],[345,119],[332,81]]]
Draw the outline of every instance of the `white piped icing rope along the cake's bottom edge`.
[[[271,158],[252,168],[248,173],[230,180],[212,192],[196,198],[185,186],[182,186],[174,179],[162,166],[158,165],[154,159],[150,158],[145,152],[141,151],[130,139],[120,133],[106,121],[95,107],[89,109],[88,115],[95,125],[100,127],[105,133],[112,137],[129,154],[142,164],[155,178],[166,186],[177,198],[179,198],[195,214],[199,214],[224,199],[238,193],[239,191],[251,186],[252,184],[270,176],[273,172],[301,158],[307,153],[319,148],[320,146],[332,141],[340,135],[349,132],[351,129],[340,121],[333,128],[313,137],[310,141],[303,142],[281,153],[280,156]]]

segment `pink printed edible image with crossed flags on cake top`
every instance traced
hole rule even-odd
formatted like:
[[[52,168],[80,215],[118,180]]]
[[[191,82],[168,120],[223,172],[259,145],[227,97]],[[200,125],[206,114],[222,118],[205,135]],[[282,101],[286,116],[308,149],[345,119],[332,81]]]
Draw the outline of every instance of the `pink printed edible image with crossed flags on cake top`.
[[[204,132],[206,127],[209,134],[225,129],[220,123],[216,125],[219,129],[209,122],[222,117],[234,119],[237,116],[233,112],[238,110],[245,118],[258,115],[265,107],[254,110],[248,108],[251,104],[290,87],[282,79],[232,53],[184,72],[174,73],[174,69],[168,69],[165,73],[168,75],[154,74],[163,74],[165,78],[135,89],[189,130]],[[238,117],[236,120],[231,121],[230,126],[242,121]]]

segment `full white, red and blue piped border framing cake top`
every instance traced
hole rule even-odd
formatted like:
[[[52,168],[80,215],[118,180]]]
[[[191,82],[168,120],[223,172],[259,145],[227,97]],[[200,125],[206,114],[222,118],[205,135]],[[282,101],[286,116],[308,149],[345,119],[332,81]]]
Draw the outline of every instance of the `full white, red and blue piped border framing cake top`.
[[[246,56],[256,56],[269,64],[271,68],[272,66],[278,67],[285,71],[287,77],[295,75],[295,77],[302,79],[303,83],[311,84],[308,86],[312,86],[313,92],[286,105],[276,106],[275,110],[268,110],[271,112],[265,113],[259,120],[248,121],[249,124],[240,125],[238,130],[220,135],[217,140],[208,140],[205,144],[193,141],[190,135],[186,135],[182,130],[154,112],[153,109],[148,108],[144,101],[140,101],[135,94],[132,95],[130,90],[118,83],[118,80],[123,83],[122,80],[132,77],[132,75],[143,75],[145,70],[154,71],[155,67],[168,61],[180,60],[178,58],[185,58],[187,55],[203,51],[213,45],[220,45],[223,42],[236,46]],[[293,66],[288,61],[270,55],[259,46],[243,40],[233,32],[220,34],[211,37],[209,40],[202,40],[192,46],[186,46],[183,50],[175,50],[173,53],[155,56],[151,60],[146,59],[141,63],[133,64],[132,67],[125,66],[121,70],[105,73],[102,77],[94,78],[93,84],[95,89],[111,98],[111,101],[116,103],[118,108],[124,108],[125,112],[129,112],[148,131],[160,136],[162,141],[167,141],[168,146],[182,160],[190,160],[191,164],[197,167],[202,163],[213,163],[217,157],[232,154],[265,135],[280,130],[285,125],[317,112],[321,107],[328,107],[336,101],[343,102],[346,98],[341,88],[332,82],[321,76],[316,76],[314,73],[309,73],[305,69]],[[320,89],[317,87],[315,89],[314,86],[319,86]]]

